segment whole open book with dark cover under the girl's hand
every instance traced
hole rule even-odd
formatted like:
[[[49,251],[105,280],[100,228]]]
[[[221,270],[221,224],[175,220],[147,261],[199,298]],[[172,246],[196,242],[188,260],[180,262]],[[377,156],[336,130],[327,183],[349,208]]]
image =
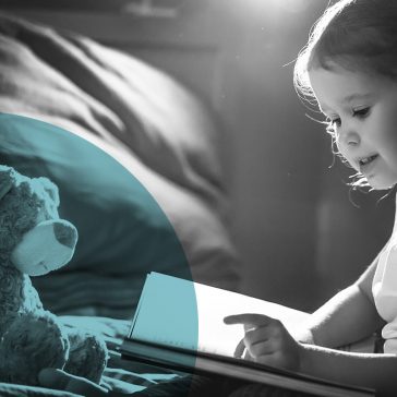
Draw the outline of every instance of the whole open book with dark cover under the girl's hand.
[[[182,372],[240,378],[316,396],[375,396],[374,390],[234,358],[243,326],[226,325],[224,317],[239,313],[279,318],[292,335],[308,320],[306,313],[280,304],[151,273],[121,353]]]

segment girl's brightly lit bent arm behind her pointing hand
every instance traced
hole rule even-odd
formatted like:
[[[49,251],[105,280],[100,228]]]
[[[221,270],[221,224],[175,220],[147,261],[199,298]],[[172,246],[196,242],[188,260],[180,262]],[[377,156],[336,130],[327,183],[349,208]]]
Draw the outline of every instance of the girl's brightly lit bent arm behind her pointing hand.
[[[384,321],[377,314],[372,280],[378,256],[353,285],[316,310],[297,335],[305,344],[337,348],[372,335]]]

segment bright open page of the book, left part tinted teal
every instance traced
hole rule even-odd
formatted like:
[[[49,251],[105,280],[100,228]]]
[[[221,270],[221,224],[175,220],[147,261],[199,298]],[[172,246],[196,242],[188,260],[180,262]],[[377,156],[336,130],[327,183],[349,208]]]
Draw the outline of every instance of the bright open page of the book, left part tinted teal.
[[[306,313],[241,293],[151,273],[131,337],[137,340],[233,357],[243,326],[226,325],[230,314],[260,313],[293,328]]]

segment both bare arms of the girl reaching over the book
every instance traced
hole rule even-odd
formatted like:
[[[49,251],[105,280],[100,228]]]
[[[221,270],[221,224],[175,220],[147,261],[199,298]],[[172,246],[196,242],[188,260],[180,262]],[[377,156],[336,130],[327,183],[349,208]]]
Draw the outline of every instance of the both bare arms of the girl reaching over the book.
[[[256,362],[368,386],[376,389],[376,396],[397,396],[397,356],[329,349],[369,336],[384,324],[372,297],[377,261],[357,282],[313,313],[309,332],[299,339],[281,322],[262,314],[231,315],[225,323],[245,325],[243,342],[249,358]]]

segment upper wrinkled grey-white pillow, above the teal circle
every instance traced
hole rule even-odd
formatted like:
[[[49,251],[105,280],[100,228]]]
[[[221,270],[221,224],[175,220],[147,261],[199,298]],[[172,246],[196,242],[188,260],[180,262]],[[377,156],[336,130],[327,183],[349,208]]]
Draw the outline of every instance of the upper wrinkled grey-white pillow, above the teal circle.
[[[166,73],[89,38],[0,13],[0,111],[124,145],[144,164],[221,206],[218,131]]]

